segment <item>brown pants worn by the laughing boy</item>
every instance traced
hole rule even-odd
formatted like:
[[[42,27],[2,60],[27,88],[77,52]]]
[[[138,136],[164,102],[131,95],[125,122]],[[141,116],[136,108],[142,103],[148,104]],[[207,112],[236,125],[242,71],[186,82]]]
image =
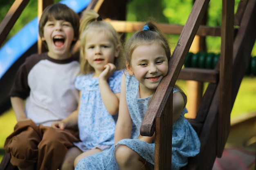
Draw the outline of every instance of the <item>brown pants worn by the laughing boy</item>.
[[[36,170],[57,170],[68,148],[79,141],[74,129],[37,126],[34,121],[21,121],[7,137],[4,150],[11,154],[11,164],[20,168],[35,166]]]

